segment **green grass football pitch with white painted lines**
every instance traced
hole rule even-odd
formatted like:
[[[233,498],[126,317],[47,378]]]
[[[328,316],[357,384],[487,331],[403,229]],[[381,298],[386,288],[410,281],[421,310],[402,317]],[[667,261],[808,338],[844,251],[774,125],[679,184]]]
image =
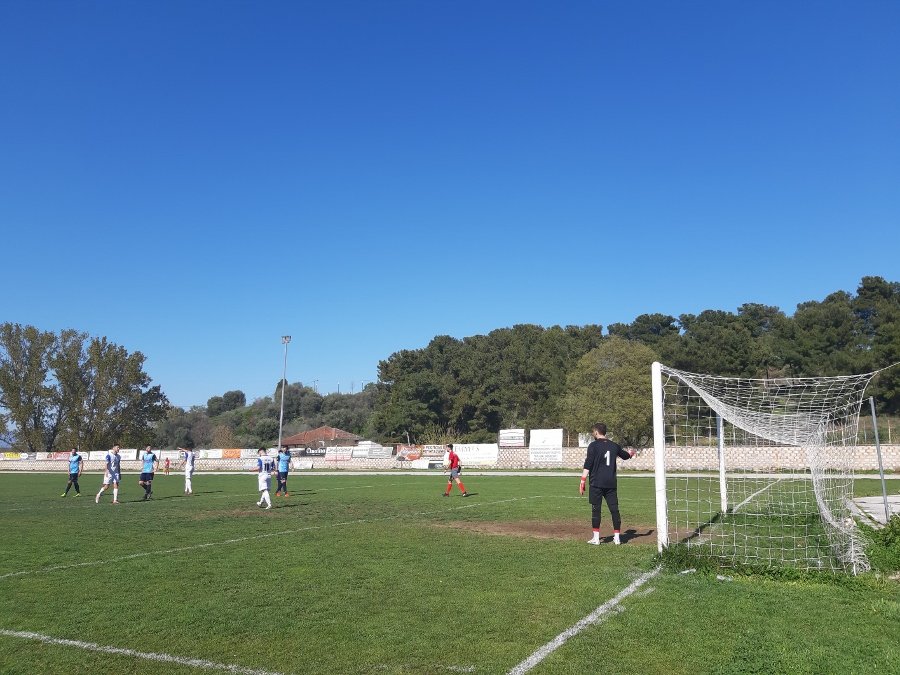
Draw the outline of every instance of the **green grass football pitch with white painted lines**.
[[[577,480],[293,474],[156,480],[137,501],[59,498],[65,476],[0,475],[0,629],[290,673],[505,673],[656,564],[655,537],[587,546]],[[869,486],[868,483],[873,485]],[[877,481],[857,481],[879,494]],[[871,488],[871,489],[869,489]],[[652,478],[619,483],[624,529],[654,529]],[[558,538],[522,536],[549,523]],[[514,527],[513,534],[496,534]],[[546,529],[546,528],[544,528]],[[608,519],[603,524],[609,531]],[[491,533],[488,533],[491,532]],[[204,543],[231,543],[156,553]],[[89,564],[54,571],[53,566]],[[900,585],[665,572],[535,673],[898,672]],[[2,673],[190,668],[0,636]]]

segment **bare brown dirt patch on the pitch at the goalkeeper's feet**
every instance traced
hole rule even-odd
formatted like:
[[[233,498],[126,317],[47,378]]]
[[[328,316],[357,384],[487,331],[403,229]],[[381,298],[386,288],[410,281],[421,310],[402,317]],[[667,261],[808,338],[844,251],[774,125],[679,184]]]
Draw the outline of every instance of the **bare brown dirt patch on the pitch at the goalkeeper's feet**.
[[[454,530],[467,530],[478,534],[489,534],[504,537],[523,537],[526,539],[557,539],[571,541],[591,537],[591,523],[573,520],[517,520],[513,522],[498,521],[463,521],[441,523],[435,527],[447,527]],[[600,526],[600,541],[612,541],[612,526],[606,523]],[[623,544],[656,544],[656,527],[651,525],[635,525],[622,530]]]

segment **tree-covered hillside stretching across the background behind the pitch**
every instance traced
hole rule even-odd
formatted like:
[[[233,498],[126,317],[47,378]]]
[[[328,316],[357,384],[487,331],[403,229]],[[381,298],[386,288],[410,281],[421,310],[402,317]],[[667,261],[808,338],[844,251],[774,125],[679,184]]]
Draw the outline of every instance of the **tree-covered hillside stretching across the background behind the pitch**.
[[[583,430],[602,411],[619,420],[620,434],[631,433],[634,418],[631,442],[640,444],[654,359],[752,378],[885,368],[900,362],[900,282],[864,277],[855,293],[803,302],[793,315],[747,303],[736,312],[643,314],[610,324],[605,335],[600,323],[441,335],[381,361],[378,382],[356,394],[322,396],[288,384],[284,434],[328,425],[383,442],[491,441],[507,427]],[[281,382],[249,403],[234,389],[184,410],[151,386],[143,363],[140,352],[106,338],[0,324],[2,439],[32,452],[113,441],[220,448],[277,441]],[[876,378],[867,394],[880,413],[900,413],[900,367]]]

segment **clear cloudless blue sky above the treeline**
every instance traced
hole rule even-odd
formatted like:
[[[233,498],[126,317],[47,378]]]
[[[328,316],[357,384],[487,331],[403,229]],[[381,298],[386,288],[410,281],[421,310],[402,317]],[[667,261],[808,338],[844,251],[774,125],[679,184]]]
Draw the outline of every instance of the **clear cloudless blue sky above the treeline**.
[[[0,3],[0,321],[172,402],[900,280],[897,2]]]

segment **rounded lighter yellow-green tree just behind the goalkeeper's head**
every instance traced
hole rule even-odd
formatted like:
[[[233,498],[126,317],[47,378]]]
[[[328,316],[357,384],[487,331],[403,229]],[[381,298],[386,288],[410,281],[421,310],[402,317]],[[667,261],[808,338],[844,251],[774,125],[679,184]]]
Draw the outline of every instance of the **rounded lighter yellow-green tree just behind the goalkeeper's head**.
[[[650,366],[656,353],[639,342],[610,337],[569,373],[561,419],[570,431],[603,422],[621,445],[641,448],[653,438]]]

